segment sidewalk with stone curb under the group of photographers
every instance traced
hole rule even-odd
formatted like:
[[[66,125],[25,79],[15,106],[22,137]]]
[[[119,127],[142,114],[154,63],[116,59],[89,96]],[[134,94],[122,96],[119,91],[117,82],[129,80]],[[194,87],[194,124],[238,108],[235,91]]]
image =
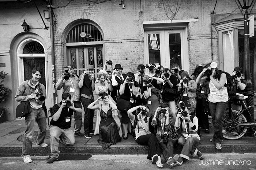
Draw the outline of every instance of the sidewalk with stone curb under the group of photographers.
[[[48,120],[46,122],[48,123]],[[0,123],[0,129],[0,155],[21,155],[22,140],[26,130],[25,119],[9,120]],[[72,129],[74,129],[74,119],[72,119]],[[31,155],[49,155],[49,146],[46,148],[36,146],[37,131],[38,125],[36,123]],[[84,132],[83,127],[80,132]],[[202,153],[253,153],[256,151],[256,138],[246,136],[238,140],[224,140],[222,142],[222,149],[216,149],[214,143],[209,141],[209,139],[213,137],[212,124],[210,124],[210,134],[205,134],[204,130],[202,130],[201,134],[201,144],[197,149]],[[106,150],[102,149],[98,144],[98,138],[99,135],[93,135],[91,139],[75,136],[76,142],[74,146],[65,146],[60,143],[60,154],[147,154],[147,146],[139,145],[131,135],[128,135],[127,140],[122,138],[121,142],[112,145],[110,149]],[[49,144],[49,140],[48,126],[45,142]],[[179,154],[180,151],[181,146],[177,146],[174,149],[174,153]]]

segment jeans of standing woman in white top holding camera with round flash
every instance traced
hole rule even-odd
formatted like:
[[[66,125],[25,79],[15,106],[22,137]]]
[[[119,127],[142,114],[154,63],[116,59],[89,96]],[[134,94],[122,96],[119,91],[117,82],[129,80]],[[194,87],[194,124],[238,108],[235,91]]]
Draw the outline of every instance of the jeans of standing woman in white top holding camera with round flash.
[[[221,143],[221,140],[223,140],[223,134],[222,134],[222,119],[224,112],[226,111],[228,102],[218,102],[218,103],[212,103],[209,102],[209,108],[211,112],[212,117],[212,125],[213,125],[213,141],[216,143]]]

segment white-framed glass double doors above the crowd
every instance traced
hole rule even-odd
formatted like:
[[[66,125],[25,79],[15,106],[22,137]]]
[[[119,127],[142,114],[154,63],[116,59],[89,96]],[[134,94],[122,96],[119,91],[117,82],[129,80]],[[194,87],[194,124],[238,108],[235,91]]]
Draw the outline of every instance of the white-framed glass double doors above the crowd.
[[[163,29],[145,32],[145,61],[171,68],[178,63],[184,70],[188,68],[188,41],[185,29]]]

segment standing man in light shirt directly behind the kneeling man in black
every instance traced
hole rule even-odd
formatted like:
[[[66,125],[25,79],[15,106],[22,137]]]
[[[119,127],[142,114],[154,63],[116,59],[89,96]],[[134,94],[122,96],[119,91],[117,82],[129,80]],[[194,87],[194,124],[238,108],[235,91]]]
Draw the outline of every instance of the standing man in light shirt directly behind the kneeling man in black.
[[[78,87],[79,77],[78,75],[74,74],[74,68],[71,64],[65,67],[68,69],[68,74],[61,74],[61,78],[59,78],[56,88],[60,90],[61,87],[63,88],[63,93],[69,93],[71,95],[71,101],[74,103],[76,108],[82,109],[82,104],[80,101],[80,88]],[[83,134],[80,133],[82,128],[82,112],[77,112],[74,110],[74,117],[75,117],[75,135],[82,137]]]

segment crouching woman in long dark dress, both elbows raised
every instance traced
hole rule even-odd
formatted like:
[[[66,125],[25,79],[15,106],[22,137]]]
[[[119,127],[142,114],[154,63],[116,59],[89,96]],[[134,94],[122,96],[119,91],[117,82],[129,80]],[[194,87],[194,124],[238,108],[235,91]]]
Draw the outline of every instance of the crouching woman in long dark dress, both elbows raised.
[[[102,104],[96,104],[99,100],[103,100]],[[121,137],[118,134],[118,128],[115,120],[112,117],[112,111],[117,110],[116,105],[108,98],[108,94],[103,93],[101,97],[89,104],[89,109],[98,109],[101,116],[101,122],[99,123],[99,139],[98,142],[103,149],[109,148],[111,145],[116,145],[121,141]]]

